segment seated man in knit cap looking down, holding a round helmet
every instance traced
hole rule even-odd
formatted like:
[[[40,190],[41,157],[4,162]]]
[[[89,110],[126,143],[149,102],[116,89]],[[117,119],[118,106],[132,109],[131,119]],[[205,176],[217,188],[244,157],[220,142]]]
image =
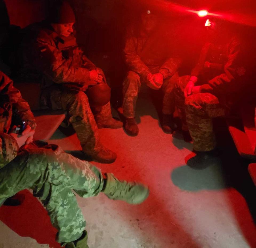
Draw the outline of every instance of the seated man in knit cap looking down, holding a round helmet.
[[[98,128],[121,128],[123,124],[112,118],[110,88],[103,71],[77,46],[74,23],[70,5],[57,1],[49,19],[25,28],[21,74],[30,81],[43,81],[43,104],[67,111],[83,152],[98,162],[112,163],[116,154],[103,146]]]

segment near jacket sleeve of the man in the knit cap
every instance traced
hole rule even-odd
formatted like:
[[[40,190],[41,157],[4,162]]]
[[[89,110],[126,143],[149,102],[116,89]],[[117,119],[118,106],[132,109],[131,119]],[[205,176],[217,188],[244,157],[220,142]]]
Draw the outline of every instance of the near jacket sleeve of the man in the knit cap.
[[[74,67],[71,59],[64,59],[61,51],[51,44],[47,36],[39,36],[33,43],[33,48],[36,51],[33,55],[35,66],[54,82],[84,84],[90,79],[89,70]]]

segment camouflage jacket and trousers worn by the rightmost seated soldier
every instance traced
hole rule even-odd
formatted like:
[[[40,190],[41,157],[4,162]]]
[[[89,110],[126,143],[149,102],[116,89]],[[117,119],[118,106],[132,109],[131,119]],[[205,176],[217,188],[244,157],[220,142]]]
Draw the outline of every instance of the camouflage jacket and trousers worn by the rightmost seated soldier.
[[[248,70],[238,38],[217,45],[206,43],[191,76],[198,77],[200,93],[184,97],[190,76],[180,77],[175,102],[182,120],[182,129],[189,130],[194,150],[210,151],[216,146],[212,118],[224,116],[236,98],[245,91]],[[210,67],[205,62],[210,62]],[[241,91],[242,90],[242,91]]]

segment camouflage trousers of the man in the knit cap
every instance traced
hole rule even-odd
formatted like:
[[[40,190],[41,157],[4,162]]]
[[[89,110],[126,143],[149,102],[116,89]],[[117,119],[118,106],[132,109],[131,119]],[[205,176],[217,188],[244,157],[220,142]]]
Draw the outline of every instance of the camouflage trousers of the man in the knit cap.
[[[88,155],[102,149],[97,123],[105,123],[112,118],[110,102],[99,109],[90,108],[88,97],[83,91],[59,90],[56,87],[50,92],[53,109],[67,111],[67,119],[72,124],[83,152]]]

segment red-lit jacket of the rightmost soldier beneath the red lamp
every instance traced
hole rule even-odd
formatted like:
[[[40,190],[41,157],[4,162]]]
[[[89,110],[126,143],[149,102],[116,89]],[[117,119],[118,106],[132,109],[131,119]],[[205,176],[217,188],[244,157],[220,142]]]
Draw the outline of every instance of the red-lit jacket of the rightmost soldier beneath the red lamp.
[[[242,90],[249,73],[245,51],[238,38],[227,44],[206,43],[191,75],[202,82],[200,92],[227,96]]]

